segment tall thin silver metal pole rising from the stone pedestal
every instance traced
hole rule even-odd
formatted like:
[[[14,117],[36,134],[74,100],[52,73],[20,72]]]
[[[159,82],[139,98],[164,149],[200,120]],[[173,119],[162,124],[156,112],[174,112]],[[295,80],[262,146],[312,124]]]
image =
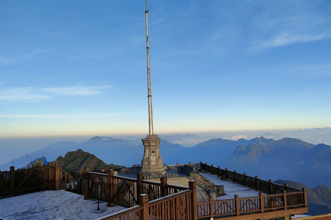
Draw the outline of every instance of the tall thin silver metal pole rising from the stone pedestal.
[[[147,83],[148,83],[148,125],[150,135],[153,135],[153,115],[152,115],[152,92],[150,91],[150,46],[148,43],[148,10],[146,0],[146,50],[147,50]]]

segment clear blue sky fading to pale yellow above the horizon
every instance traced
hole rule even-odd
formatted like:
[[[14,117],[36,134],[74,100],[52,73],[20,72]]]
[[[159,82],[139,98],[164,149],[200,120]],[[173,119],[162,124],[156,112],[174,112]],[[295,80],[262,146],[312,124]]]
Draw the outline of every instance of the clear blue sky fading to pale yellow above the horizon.
[[[155,133],[331,125],[330,1],[149,9]],[[144,11],[1,1],[0,137],[147,134]]]

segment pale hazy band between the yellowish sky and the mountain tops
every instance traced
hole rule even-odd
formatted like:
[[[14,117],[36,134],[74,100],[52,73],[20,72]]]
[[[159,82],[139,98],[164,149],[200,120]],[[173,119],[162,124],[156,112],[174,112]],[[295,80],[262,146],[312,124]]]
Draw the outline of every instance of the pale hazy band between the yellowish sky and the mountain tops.
[[[325,132],[325,129],[326,132]],[[265,135],[265,134],[268,135]],[[219,132],[200,132],[200,133],[157,133],[162,138],[165,135],[197,135],[197,137],[190,137],[187,139],[180,138],[177,141],[171,141],[172,144],[181,144],[182,146],[194,146],[200,142],[205,142],[213,138],[222,138],[229,140],[239,140],[240,138],[250,140],[254,137],[261,137],[264,135],[265,138],[279,140],[283,137],[299,138],[305,142],[311,144],[328,144],[331,145],[331,127],[326,128],[312,128],[312,129],[294,129],[294,130],[267,130],[267,131],[219,131]],[[0,138],[0,146],[2,153],[0,155],[0,164],[6,164],[11,162],[12,159],[25,155],[26,153],[33,153],[41,148],[46,148],[50,144],[57,142],[86,142],[94,136],[105,136],[120,138],[123,140],[140,140],[146,137],[146,134],[127,134],[127,135],[114,135],[114,134],[103,134],[103,135],[80,135],[80,136],[58,136],[58,137],[12,137],[12,138]],[[167,138],[163,138],[167,140]],[[33,158],[32,158],[33,159]],[[34,158],[35,159],[35,158]],[[53,158],[47,158],[53,159]]]

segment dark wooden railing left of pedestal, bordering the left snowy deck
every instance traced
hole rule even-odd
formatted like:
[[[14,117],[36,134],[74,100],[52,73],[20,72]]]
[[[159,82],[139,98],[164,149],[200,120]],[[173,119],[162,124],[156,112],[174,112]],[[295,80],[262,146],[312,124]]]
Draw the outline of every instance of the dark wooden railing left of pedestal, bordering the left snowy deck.
[[[85,198],[101,199],[107,201],[109,206],[114,204],[133,207],[138,204],[138,197],[145,193],[148,200],[153,201],[168,195],[172,195],[188,187],[172,186],[167,184],[167,178],[161,177],[161,182],[143,180],[143,175],[138,174],[137,179],[114,175],[114,170],[108,174],[90,172],[86,169]],[[101,179],[100,184],[94,183],[94,179]]]

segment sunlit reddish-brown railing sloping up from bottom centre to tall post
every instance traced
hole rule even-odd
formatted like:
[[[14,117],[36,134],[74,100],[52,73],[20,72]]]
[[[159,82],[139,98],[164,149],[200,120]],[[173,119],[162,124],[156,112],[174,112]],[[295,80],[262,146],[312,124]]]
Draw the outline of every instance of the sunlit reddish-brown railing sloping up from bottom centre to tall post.
[[[191,220],[197,219],[197,188],[195,181],[189,182],[190,188],[173,195],[161,197],[153,201],[148,195],[139,195],[139,206],[102,217],[97,220]]]

